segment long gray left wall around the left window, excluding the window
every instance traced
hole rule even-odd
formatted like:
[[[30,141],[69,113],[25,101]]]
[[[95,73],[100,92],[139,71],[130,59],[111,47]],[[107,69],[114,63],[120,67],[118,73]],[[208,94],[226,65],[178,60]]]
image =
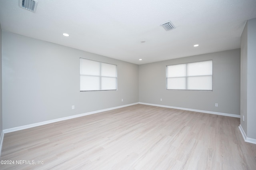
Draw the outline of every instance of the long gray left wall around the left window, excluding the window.
[[[80,57],[118,65],[118,90],[80,92]],[[3,31],[2,88],[8,129],[136,103],[138,65]]]

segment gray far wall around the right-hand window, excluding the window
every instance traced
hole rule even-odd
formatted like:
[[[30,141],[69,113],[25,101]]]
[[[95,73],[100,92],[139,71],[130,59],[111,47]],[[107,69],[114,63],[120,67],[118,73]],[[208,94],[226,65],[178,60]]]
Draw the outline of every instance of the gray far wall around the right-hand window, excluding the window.
[[[210,59],[213,91],[166,90],[166,65]],[[139,65],[139,101],[240,115],[240,49]]]

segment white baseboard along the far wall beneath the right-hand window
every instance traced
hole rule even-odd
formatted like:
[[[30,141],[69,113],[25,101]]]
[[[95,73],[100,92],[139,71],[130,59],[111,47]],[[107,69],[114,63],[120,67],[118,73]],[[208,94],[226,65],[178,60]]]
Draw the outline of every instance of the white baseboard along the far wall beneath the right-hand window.
[[[141,103],[139,104],[142,105],[151,105],[151,106],[158,106],[158,107],[167,107],[167,108],[172,108],[172,109],[180,109],[180,110],[185,110],[185,111],[194,111],[194,112],[201,112],[201,113],[210,113],[213,115],[222,115],[222,116],[229,116],[229,117],[238,117],[240,118],[240,115],[235,115],[235,114],[229,114],[229,113],[219,113],[219,112],[212,112],[212,111],[202,111],[202,110],[197,110],[197,109],[188,109],[188,108],[183,108],[183,107],[174,107],[174,106],[166,106],[166,105],[155,105],[151,103]]]

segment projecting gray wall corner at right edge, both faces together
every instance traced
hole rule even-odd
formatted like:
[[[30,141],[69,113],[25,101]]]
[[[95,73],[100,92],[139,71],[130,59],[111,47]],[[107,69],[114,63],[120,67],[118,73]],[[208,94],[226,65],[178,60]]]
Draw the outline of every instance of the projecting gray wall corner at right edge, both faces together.
[[[241,36],[241,126],[256,139],[256,18],[248,20]]]

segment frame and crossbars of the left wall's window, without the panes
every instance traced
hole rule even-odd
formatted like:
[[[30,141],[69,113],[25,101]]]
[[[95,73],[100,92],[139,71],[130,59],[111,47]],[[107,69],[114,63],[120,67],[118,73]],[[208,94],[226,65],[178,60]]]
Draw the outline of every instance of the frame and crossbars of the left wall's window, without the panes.
[[[82,74],[82,60],[90,60],[90,61],[94,61],[100,64],[100,70],[99,73],[100,75],[86,75],[86,74]],[[82,58],[80,57],[79,59],[80,61],[80,92],[91,92],[91,91],[117,91],[118,90],[118,66],[116,64],[111,64],[111,63],[106,63],[106,62],[102,62],[102,61],[96,61],[96,60],[92,60],[92,59],[86,59],[86,58]],[[116,66],[116,77],[111,77],[111,76],[104,76],[102,75],[102,63],[104,64],[109,64],[109,65],[114,65]],[[99,90],[81,90],[81,76],[90,76],[90,77],[99,77]],[[116,79],[116,89],[102,89],[102,78],[115,78]]]

